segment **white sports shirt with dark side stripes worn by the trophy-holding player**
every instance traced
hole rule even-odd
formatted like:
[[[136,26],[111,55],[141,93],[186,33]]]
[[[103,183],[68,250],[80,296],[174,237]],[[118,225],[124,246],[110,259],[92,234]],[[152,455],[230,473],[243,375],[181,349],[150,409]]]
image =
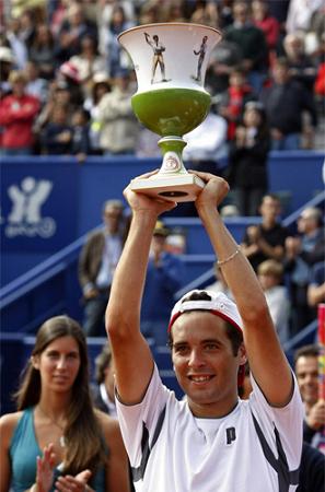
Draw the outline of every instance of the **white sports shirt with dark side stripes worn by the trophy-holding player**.
[[[141,403],[117,400],[137,492],[293,492],[303,407],[270,407],[252,377],[249,400],[221,419],[197,419],[161,382],[156,366]],[[142,443],[142,444],[141,444]]]

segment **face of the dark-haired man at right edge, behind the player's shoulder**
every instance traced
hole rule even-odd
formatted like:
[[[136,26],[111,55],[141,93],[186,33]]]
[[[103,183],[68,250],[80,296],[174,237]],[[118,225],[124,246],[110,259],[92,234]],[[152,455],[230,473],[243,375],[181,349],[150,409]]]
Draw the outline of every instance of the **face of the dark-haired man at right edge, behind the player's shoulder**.
[[[300,356],[295,363],[295,376],[301,398],[307,405],[318,399],[318,361],[314,355]]]

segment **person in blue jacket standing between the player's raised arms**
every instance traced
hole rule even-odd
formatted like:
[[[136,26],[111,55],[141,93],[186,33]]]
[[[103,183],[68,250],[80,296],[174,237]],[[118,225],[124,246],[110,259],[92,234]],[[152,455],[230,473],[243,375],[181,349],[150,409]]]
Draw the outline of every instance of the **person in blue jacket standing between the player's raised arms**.
[[[141,309],[141,331],[147,338],[153,338],[158,345],[166,343],[166,326],[185,268],[177,255],[167,251],[169,234],[170,230],[158,221],[150,246]]]

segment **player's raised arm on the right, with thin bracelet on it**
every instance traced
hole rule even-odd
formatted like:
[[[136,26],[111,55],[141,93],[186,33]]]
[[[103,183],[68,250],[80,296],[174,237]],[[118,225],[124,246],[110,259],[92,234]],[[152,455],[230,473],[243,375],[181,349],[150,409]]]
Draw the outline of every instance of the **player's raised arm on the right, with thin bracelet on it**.
[[[196,200],[196,208],[241,314],[251,371],[268,402],[282,407],[292,394],[291,371],[256,274],[217,210],[229,186],[224,179],[211,174],[195,174],[206,181]]]

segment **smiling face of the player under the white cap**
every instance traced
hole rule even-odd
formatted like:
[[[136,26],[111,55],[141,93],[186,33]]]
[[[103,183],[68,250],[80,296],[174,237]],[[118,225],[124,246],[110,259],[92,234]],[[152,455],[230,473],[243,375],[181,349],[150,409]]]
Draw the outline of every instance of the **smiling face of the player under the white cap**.
[[[181,315],[172,327],[172,360],[177,380],[196,417],[220,417],[233,408],[243,345],[233,354],[223,319],[209,312]]]

